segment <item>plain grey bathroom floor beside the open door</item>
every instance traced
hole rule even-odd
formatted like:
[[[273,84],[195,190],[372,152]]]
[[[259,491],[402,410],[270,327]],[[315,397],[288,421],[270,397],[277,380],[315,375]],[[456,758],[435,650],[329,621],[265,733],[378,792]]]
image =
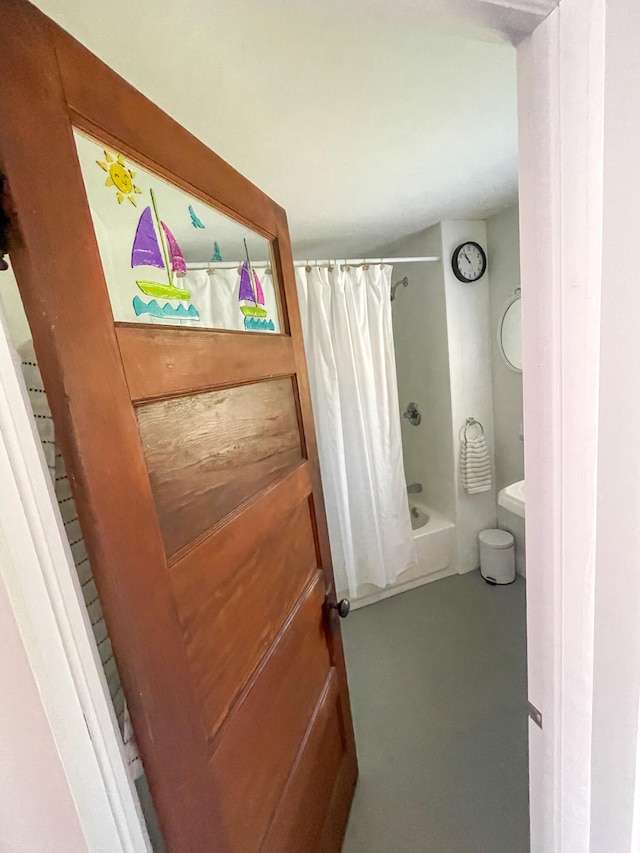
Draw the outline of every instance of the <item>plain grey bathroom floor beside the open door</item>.
[[[526,853],[525,584],[427,584],[343,624],[360,779],[343,853]]]

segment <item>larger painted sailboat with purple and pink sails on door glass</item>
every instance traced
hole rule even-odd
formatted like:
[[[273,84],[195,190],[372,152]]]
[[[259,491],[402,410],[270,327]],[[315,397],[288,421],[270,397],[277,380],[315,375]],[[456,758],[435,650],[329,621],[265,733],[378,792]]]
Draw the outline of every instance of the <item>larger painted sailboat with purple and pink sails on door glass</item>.
[[[167,273],[167,283],[146,280],[137,280],[136,283],[140,290],[147,296],[164,299],[191,299],[191,292],[189,290],[176,287],[173,283],[173,273],[177,276],[186,275],[187,265],[176,238],[167,225],[160,220],[153,190],[149,190],[149,192],[151,194],[151,206],[145,207],[138,220],[138,227],[136,228],[136,235],[131,249],[131,267],[156,267],[157,269],[165,270]],[[149,303],[149,305],[151,304]],[[145,303],[138,297],[138,303],[134,306],[136,314],[140,313],[139,309],[143,305]],[[157,309],[157,303],[155,307]],[[193,312],[190,310],[191,319],[199,319],[200,315],[196,308],[193,305],[190,308],[193,308],[196,314],[196,317],[194,317]],[[145,313],[153,313],[154,316],[158,316],[156,311]]]

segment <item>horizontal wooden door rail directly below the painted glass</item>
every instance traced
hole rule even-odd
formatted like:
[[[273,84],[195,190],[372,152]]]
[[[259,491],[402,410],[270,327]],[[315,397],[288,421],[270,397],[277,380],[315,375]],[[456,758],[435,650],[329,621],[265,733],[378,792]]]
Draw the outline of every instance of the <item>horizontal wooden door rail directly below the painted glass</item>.
[[[116,335],[134,402],[295,373],[284,335],[167,329],[118,323]]]

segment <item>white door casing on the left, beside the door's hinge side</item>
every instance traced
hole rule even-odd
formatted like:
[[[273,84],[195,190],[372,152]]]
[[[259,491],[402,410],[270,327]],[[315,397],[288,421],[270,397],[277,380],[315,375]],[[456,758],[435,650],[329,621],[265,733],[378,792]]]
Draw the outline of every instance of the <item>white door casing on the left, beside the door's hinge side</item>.
[[[0,561],[0,583],[20,629],[87,849],[145,853],[149,847],[137,795],[1,307],[0,483],[0,524],[11,557]]]

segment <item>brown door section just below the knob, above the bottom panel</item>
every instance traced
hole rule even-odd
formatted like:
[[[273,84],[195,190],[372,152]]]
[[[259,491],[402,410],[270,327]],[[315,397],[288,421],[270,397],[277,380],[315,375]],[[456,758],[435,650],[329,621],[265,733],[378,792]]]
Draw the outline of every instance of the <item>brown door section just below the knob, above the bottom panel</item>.
[[[219,805],[230,853],[260,850],[330,676],[323,601],[324,581],[318,572],[230,716],[211,759],[212,773],[224,782]]]

